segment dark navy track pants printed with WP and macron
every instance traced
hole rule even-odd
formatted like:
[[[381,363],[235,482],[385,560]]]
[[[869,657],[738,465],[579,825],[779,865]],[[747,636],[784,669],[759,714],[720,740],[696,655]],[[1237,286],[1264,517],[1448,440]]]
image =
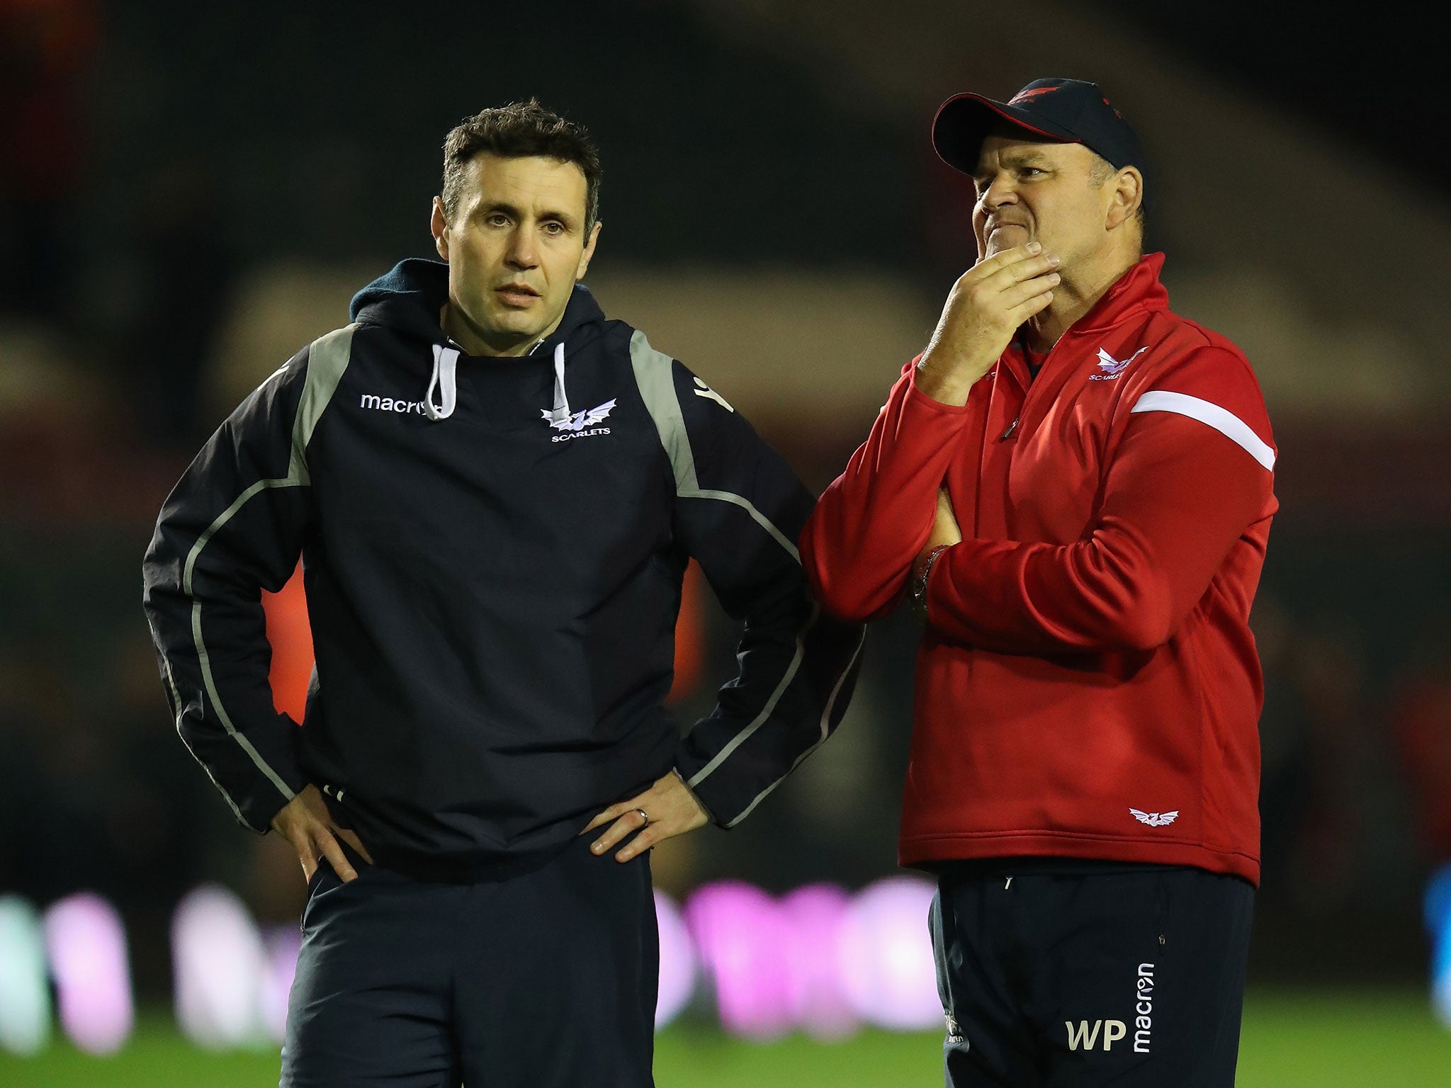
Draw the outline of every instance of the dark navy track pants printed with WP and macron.
[[[948,1088],[1232,1088],[1254,888],[1171,866],[948,865]]]

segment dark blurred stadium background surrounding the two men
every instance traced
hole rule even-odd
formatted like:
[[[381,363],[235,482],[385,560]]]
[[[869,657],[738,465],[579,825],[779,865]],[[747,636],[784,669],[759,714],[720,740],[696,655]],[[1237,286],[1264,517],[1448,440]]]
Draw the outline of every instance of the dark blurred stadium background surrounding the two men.
[[[141,554],[231,408],[345,323],[354,290],[432,255],[454,123],[537,96],[592,131],[607,313],[820,490],[972,261],[971,184],[929,147],[934,107],[1074,75],[1139,129],[1172,305],[1248,353],[1280,447],[1254,614],[1264,886],[1241,1082],[1386,1084],[1410,1050],[1400,1084],[1451,1082],[1432,1013],[1439,956],[1451,1023],[1451,892],[1435,894],[1451,862],[1451,152],[1429,41],[1283,7],[0,0],[0,1020],[28,947],[7,934],[44,933],[59,970],[57,904],[115,921],[136,1010],[109,1059],[58,1029],[44,1046],[12,1033],[39,1053],[10,1058],[0,1024],[0,1081],[129,1082],[147,1047],[173,1065],[142,1082],[276,1076],[266,1042],[235,1073],[168,1042],[178,905],[210,889],[276,934],[303,888],[174,734]],[[303,606],[270,602],[280,704],[311,662]],[[708,711],[734,638],[695,586],[682,722]],[[914,647],[904,612],[876,624],[836,738],[737,830],[659,850],[662,894],[905,888],[889,879]],[[662,1034],[663,1085],[810,1078],[858,1053],[843,1047],[876,1058],[830,1082],[940,1082],[939,1040],[869,1011],[834,1046],[789,1017],[756,1033],[773,1043],[731,1042],[701,979]]]

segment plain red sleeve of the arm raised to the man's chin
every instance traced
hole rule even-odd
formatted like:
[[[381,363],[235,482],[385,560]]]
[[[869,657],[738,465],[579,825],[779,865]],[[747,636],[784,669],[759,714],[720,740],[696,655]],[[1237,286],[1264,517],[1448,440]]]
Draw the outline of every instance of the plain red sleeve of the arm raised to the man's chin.
[[[916,360],[903,368],[866,442],[826,489],[801,535],[801,563],[817,599],[844,619],[875,619],[901,599],[965,432],[968,409],[917,392],[914,370]]]

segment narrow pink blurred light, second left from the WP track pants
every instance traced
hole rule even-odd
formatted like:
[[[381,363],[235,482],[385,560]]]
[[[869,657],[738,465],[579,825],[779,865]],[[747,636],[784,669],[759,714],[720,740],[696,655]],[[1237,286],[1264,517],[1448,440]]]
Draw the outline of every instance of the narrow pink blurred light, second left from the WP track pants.
[[[834,883],[810,883],[781,901],[789,933],[791,1017],[813,1039],[846,1039],[860,1017],[846,1000],[839,968],[842,920],[850,897]]]

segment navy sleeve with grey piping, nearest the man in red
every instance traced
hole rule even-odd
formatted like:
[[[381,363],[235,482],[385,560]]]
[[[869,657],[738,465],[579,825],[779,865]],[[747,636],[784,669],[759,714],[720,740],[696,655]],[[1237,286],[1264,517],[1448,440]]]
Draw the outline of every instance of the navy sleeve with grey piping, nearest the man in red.
[[[733,827],[840,722],[865,631],[811,599],[795,540],[813,499],[789,466],[641,334],[631,350],[675,473],[675,538],[744,624],[736,677],[676,757],[714,821]]]

